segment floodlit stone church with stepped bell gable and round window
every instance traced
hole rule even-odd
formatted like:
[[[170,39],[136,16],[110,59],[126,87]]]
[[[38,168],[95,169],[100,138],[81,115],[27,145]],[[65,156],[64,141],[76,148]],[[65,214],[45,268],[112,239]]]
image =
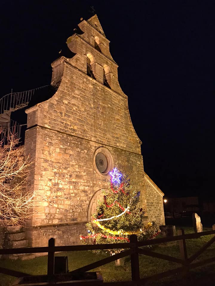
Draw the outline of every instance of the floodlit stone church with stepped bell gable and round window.
[[[46,246],[50,237],[56,245],[80,244],[116,166],[140,191],[145,221],[165,224],[164,194],[144,172],[117,67],[97,15],[81,18],[52,63],[51,85],[1,112],[10,118],[22,108],[27,114],[24,151],[34,160],[29,180],[37,190],[26,229],[29,246]]]

